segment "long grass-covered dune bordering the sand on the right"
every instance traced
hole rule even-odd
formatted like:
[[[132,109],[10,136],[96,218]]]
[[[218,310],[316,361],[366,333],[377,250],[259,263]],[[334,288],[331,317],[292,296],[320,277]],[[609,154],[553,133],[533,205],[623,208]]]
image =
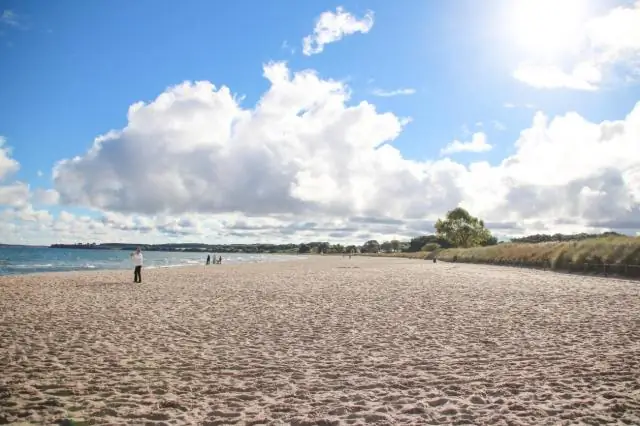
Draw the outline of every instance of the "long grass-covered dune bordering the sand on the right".
[[[431,259],[435,253],[390,253],[382,256]],[[640,237],[606,237],[538,244],[498,244],[437,252],[446,262],[550,268],[640,277]]]

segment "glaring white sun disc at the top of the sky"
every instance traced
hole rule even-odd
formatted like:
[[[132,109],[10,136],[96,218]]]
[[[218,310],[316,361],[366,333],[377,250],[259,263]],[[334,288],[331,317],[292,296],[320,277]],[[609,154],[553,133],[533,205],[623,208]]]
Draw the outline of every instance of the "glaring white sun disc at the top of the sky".
[[[579,42],[588,0],[512,0],[509,3],[509,34],[519,49],[554,56]]]

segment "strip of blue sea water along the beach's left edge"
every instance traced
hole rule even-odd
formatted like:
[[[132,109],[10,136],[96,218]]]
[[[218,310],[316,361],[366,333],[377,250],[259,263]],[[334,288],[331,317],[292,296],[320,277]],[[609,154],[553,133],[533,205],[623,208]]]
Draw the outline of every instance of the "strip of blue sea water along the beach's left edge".
[[[40,247],[0,247],[0,275],[35,272],[89,271],[96,269],[131,269],[133,264],[125,250],[54,249]],[[213,255],[213,253],[210,253]],[[249,253],[216,253],[222,263],[279,262],[303,256]],[[145,268],[204,265],[207,253],[145,251]],[[211,267],[215,267],[212,265]]]

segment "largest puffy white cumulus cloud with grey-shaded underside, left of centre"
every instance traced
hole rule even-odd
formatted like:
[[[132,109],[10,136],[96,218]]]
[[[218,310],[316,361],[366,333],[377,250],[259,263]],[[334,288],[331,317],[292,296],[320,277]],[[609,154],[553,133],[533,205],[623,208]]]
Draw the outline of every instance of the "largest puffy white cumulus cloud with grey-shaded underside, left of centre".
[[[272,63],[264,75],[271,87],[253,109],[208,82],[133,105],[126,128],[57,164],[61,201],[129,213],[251,215],[394,215],[445,202],[425,185],[439,185],[461,166],[424,169],[402,158],[390,142],[407,120],[368,102],[348,105],[347,87],[312,71],[291,75]],[[420,201],[388,205],[403,187],[422,192]]]

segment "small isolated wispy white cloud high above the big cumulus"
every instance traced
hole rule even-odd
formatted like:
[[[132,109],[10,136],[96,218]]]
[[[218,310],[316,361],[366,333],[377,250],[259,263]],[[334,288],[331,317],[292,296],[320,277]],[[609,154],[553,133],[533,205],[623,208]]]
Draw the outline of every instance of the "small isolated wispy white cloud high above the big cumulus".
[[[344,36],[355,33],[368,33],[373,27],[373,12],[367,12],[359,19],[337,7],[336,12],[323,12],[316,21],[313,34],[302,40],[302,53],[306,56],[321,53],[324,46],[341,40]]]

